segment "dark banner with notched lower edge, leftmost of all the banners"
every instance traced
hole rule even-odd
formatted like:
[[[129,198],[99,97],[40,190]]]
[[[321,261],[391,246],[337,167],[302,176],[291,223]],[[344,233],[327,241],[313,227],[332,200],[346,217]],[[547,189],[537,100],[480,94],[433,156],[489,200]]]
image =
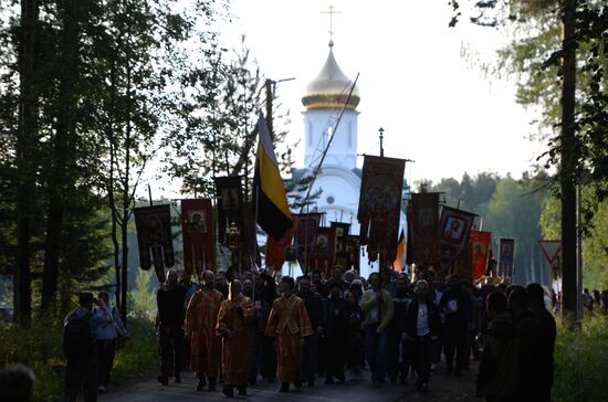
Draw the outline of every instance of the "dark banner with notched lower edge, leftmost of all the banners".
[[[139,266],[148,271],[154,264],[158,282],[164,283],[165,267],[175,265],[170,207],[167,204],[136,208],[134,215]]]

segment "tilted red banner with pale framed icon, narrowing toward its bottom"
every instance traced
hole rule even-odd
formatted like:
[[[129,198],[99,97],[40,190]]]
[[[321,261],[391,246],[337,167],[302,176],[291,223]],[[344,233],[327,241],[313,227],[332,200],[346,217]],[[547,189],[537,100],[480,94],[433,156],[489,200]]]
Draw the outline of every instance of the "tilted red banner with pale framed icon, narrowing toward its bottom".
[[[439,224],[439,265],[445,272],[469,244],[475,214],[443,207]]]

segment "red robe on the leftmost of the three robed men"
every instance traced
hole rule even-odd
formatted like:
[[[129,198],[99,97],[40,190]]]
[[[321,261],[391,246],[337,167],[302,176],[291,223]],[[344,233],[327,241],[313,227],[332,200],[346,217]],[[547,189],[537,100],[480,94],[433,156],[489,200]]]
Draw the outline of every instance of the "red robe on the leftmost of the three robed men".
[[[216,335],[218,311],[223,300],[216,289],[197,290],[186,310],[186,334],[190,337],[190,369],[217,377],[220,369],[220,338]]]

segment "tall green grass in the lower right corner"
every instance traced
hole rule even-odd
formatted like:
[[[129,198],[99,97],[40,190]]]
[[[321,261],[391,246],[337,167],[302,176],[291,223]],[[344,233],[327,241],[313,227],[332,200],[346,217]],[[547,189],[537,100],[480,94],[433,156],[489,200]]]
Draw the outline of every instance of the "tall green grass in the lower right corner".
[[[555,401],[608,401],[608,316],[585,317],[579,330],[557,322]]]

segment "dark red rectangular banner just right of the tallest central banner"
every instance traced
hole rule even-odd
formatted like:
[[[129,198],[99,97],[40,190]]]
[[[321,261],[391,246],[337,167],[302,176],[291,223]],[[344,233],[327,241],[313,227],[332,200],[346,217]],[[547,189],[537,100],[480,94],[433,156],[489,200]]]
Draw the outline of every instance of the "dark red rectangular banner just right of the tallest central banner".
[[[439,193],[411,194],[411,261],[426,267],[439,260]]]

